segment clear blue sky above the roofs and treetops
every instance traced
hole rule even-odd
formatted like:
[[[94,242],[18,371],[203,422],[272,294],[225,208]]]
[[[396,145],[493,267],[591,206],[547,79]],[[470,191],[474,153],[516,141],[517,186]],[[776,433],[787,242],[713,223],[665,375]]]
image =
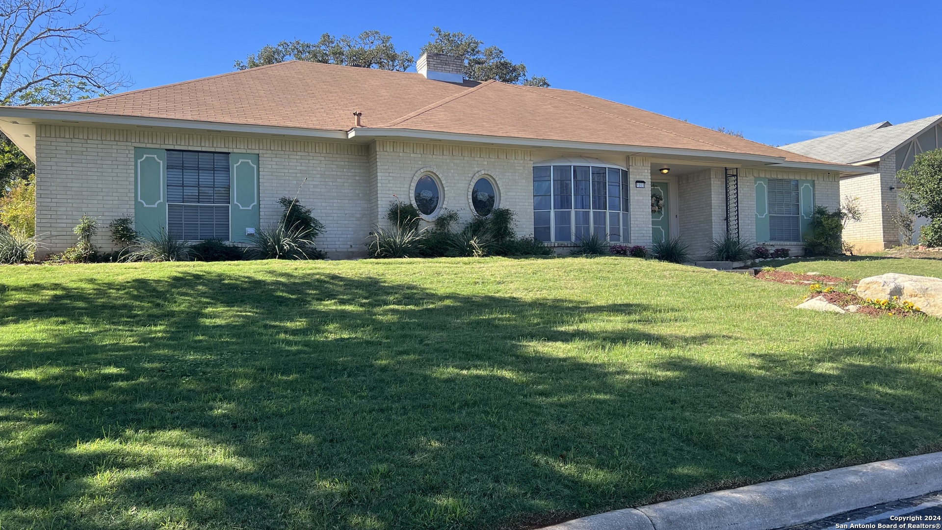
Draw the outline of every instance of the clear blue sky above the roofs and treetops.
[[[91,6],[91,4],[89,4]],[[267,43],[379,29],[418,56],[433,25],[471,33],[584,91],[785,144],[942,113],[942,2],[107,0],[133,89],[230,72]]]

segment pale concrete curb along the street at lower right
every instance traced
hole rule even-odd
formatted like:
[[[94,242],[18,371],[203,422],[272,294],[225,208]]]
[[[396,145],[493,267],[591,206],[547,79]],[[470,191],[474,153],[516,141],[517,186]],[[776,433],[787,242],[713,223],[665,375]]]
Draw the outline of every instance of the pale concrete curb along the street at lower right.
[[[544,530],[772,530],[942,489],[942,452],[626,508]]]

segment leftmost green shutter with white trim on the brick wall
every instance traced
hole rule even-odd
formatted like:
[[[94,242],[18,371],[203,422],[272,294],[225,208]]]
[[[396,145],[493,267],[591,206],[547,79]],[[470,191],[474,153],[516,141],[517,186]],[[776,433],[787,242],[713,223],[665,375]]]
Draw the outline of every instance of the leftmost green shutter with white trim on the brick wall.
[[[145,236],[167,229],[167,152],[134,148],[134,228]]]

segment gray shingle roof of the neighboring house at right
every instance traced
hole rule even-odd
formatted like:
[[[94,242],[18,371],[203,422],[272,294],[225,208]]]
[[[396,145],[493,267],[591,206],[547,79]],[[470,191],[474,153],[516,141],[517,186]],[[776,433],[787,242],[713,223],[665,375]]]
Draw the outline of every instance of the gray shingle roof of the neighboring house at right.
[[[940,121],[942,121],[942,114],[905,124],[894,125],[881,122],[812,140],[789,143],[781,146],[780,149],[838,164],[853,164],[862,160],[883,157],[903,142],[918,135],[923,129]]]

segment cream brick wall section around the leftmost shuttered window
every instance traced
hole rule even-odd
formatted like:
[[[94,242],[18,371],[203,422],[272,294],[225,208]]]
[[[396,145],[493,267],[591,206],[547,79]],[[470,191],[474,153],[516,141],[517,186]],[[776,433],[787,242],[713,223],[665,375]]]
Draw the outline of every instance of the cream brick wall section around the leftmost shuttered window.
[[[332,256],[362,255],[371,224],[368,146],[258,137],[41,125],[37,130],[37,226],[48,252],[73,244],[83,214],[99,218],[94,243],[110,249],[106,228],[134,215],[134,148],[257,153],[261,222],[277,222],[278,198],[294,196],[326,226],[317,240]],[[304,181],[304,178],[307,180]]]

